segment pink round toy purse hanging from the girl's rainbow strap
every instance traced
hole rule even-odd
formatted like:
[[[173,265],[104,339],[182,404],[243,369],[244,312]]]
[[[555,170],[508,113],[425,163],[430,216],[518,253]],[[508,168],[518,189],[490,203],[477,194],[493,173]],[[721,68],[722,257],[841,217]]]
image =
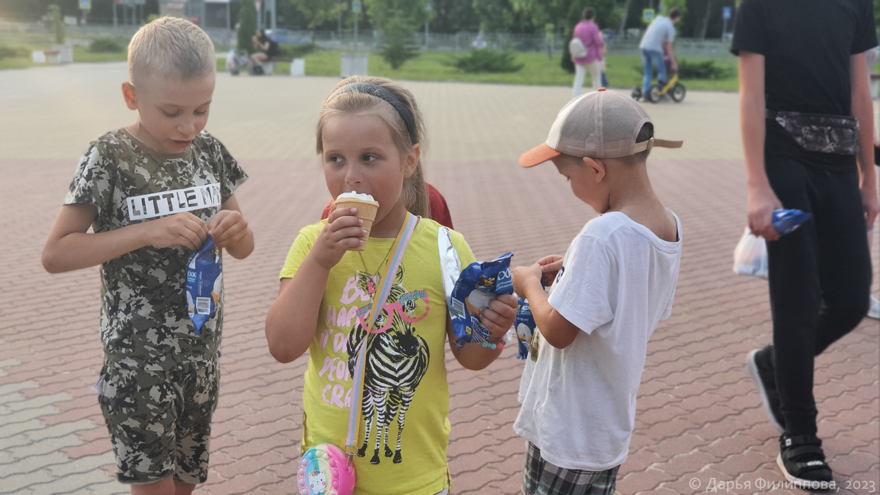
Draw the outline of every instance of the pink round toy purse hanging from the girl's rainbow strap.
[[[297,488],[299,495],[351,495],[355,466],[340,447],[318,444],[306,450],[299,462]]]

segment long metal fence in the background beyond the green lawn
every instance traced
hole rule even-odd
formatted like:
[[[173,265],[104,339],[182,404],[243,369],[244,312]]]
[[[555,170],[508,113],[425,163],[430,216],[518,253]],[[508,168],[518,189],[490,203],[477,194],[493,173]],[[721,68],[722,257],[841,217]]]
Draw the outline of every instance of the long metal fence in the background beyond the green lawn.
[[[120,25],[114,26],[90,24],[87,26],[65,26],[66,40],[76,45],[88,45],[96,38],[112,38],[128,43],[138,26]],[[234,31],[223,27],[209,27],[205,29],[217,48],[217,51],[225,51],[234,46],[238,41]],[[277,41],[289,43],[314,43],[320,48],[342,50],[378,50],[383,40],[378,31],[358,33],[355,38],[350,31],[318,31],[318,30],[290,30],[276,29],[272,35]],[[640,36],[632,33],[627,37],[606,33],[608,50],[612,54],[637,54],[639,52]],[[0,44],[21,45],[41,44],[48,45],[54,42],[51,26],[42,22],[16,23],[4,22],[0,24]],[[517,52],[542,52],[559,54],[565,48],[568,40],[561,34],[547,36],[546,34],[517,34],[517,33],[430,33],[417,32],[410,39],[414,48],[424,51],[460,51],[470,48],[489,48],[500,50],[512,50]],[[724,56],[730,54],[730,41],[720,40],[687,40],[675,41],[675,51],[679,55],[704,55]],[[732,56],[732,55],[731,55]]]

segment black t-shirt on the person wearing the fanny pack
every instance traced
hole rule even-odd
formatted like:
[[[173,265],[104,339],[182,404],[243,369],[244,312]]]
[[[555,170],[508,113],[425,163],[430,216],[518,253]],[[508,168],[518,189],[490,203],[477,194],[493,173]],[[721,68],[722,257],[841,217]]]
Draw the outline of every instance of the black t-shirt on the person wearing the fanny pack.
[[[730,51],[764,55],[768,109],[852,115],[850,55],[876,46],[871,0],[743,0]],[[769,120],[765,154],[818,166],[855,163],[854,157],[804,151]]]

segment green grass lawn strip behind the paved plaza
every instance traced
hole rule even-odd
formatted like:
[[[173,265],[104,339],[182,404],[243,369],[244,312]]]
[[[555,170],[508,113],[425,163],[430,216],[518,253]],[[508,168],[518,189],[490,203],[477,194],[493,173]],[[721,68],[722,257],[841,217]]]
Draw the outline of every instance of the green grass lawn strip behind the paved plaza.
[[[48,47],[26,47],[28,54],[31,49],[48,49]],[[392,79],[409,79],[414,81],[466,81],[477,83],[501,83],[511,85],[571,85],[573,75],[560,67],[560,55],[554,54],[548,59],[546,54],[520,53],[516,55],[516,63],[523,64],[517,72],[502,74],[469,74],[458,70],[452,65],[455,57],[466,55],[466,52],[424,52],[404,63],[398,70],[393,70],[382,58],[382,55],[370,53],[370,75]],[[74,60],[77,62],[113,62],[126,59],[126,53],[92,53],[88,47],[74,47]],[[608,55],[605,71],[612,87],[626,88],[642,84],[642,58],[639,55]],[[691,61],[699,61],[698,57],[684,57]],[[715,59],[722,67],[729,69],[726,78],[718,80],[683,79],[687,89],[712,89],[737,91],[737,60],[733,57]],[[2,58],[0,70],[22,69],[35,66],[30,56]],[[225,60],[217,60],[217,70],[225,70]],[[278,73],[290,72],[289,63],[279,63]],[[340,52],[337,50],[317,50],[305,55],[305,74],[308,76],[339,76]],[[588,82],[589,85],[589,76]]]

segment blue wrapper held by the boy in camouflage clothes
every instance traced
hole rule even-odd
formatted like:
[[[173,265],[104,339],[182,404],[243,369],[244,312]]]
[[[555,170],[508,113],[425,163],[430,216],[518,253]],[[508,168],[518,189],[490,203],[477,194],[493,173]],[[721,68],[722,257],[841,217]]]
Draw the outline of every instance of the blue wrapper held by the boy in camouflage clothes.
[[[189,255],[187,262],[187,312],[195,326],[195,335],[202,335],[202,326],[216,311],[222,286],[220,248],[214,245],[214,237],[208,236],[204,245]]]

